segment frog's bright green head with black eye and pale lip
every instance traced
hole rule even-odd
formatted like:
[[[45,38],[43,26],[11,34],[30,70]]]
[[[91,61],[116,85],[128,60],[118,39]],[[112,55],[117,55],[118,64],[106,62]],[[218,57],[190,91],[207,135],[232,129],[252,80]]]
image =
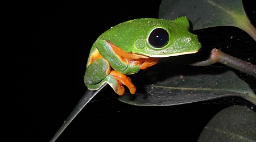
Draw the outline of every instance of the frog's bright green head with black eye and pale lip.
[[[147,28],[144,37],[135,40],[133,53],[169,57],[196,53],[201,48],[197,35],[189,32],[189,21],[185,17],[158,21],[148,19],[147,23],[152,26]]]

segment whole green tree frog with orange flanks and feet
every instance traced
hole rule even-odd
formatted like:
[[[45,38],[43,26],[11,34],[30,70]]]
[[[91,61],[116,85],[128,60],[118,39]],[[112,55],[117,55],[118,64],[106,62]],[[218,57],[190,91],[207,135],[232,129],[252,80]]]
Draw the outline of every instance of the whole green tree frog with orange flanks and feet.
[[[201,44],[189,32],[185,16],[174,20],[141,18],[119,23],[101,34],[90,49],[84,76],[89,90],[108,83],[123,95],[127,86],[131,94],[136,87],[127,77],[155,65],[163,57],[196,53]]]

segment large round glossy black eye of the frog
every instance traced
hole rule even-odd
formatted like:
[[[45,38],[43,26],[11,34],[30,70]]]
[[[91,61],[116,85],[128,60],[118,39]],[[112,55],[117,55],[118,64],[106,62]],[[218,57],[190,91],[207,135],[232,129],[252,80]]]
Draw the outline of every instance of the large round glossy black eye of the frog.
[[[164,47],[169,41],[169,35],[163,28],[155,28],[148,37],[148,43],[152,47],[161,48]]]

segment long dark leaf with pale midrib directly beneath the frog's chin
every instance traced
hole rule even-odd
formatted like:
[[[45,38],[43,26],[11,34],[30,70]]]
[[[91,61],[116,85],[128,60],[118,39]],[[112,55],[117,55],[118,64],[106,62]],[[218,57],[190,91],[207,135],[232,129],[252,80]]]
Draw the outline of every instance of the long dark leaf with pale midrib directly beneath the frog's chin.
[[[119,101],[137,106],[171,106],[237,96],[256,105],[256,95],[246,82],[234,72],[216,66],[162,62],[142,74],[147,74],[148,77],[143,78],[151,78],[152,81],[138,86],[135,96],[125,94],[118,98]],[[134,78],[138,79],[142,74]]]

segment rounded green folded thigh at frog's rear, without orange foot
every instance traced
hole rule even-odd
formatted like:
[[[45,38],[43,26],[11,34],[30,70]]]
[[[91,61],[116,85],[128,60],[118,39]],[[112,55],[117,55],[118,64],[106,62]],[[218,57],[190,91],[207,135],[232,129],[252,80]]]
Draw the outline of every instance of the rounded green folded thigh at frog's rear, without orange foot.
[[[84,76],[85,85],[96,85],[110,73],[109,62],[105,59],[97,59],[92,62],[87,68]],[[96,85],[97,86],[97,85]],[[89,87],[89,86],[88,86]],[[94,88],[92,88],[94,89]]]

